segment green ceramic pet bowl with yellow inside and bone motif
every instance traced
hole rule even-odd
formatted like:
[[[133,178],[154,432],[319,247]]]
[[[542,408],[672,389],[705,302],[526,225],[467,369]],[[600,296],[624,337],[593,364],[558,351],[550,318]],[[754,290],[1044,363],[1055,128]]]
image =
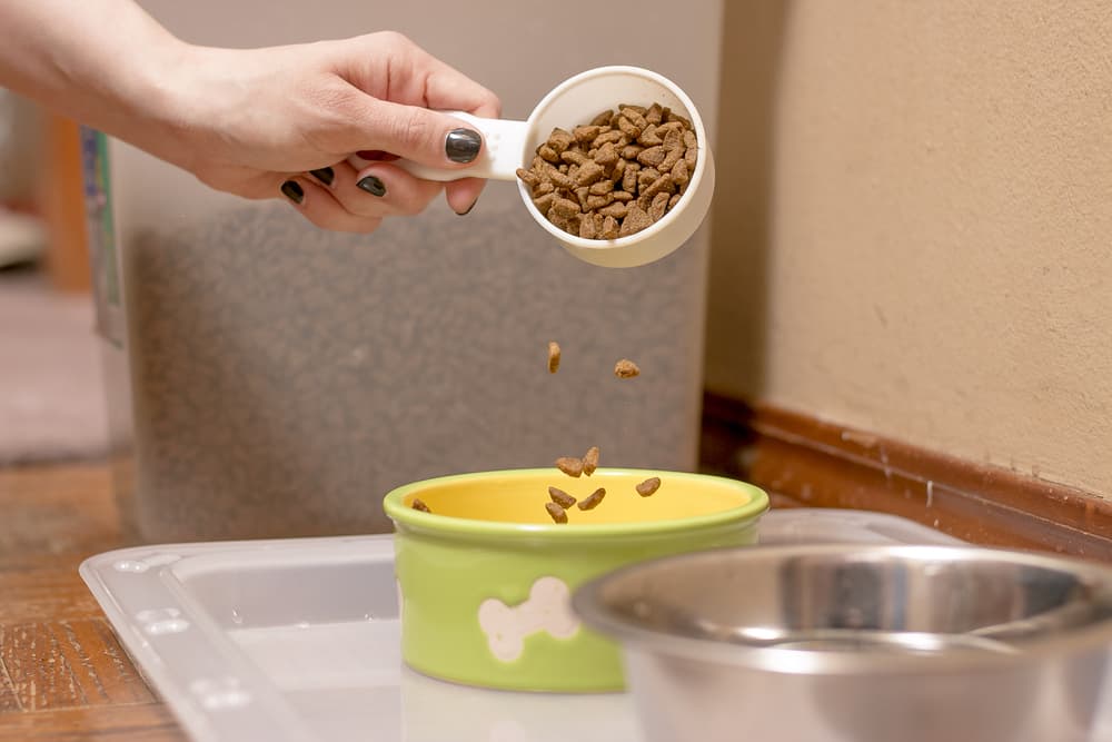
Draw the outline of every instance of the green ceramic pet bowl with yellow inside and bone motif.
[[[635,487],[658,476],[659,489]],[[595,509],[545,511],[549,485]],[[414,509],[414,499],[430,513]],[[683,552],[756,542],[759,488],[701,474],[555,468],[460,474],[390,492],[401,655],[434,677],[516,691],[602,692],[625,685],[610,640],[582,626],[570,595],[612,570]]]

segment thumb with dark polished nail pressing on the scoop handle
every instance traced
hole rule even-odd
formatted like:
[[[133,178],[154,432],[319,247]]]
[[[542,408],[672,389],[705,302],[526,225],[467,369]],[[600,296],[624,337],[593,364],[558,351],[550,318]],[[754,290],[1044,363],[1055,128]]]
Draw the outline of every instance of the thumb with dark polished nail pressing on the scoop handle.
[[[447,113],[364,96],[351,151],[381,150],[436,168],[461,168],[479,156],[483,135]]]

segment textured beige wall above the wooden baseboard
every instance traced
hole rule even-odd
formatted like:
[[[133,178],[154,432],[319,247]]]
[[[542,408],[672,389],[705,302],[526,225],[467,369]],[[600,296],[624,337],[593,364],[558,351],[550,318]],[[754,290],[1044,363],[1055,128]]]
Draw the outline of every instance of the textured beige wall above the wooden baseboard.
[[[708,386],[1112,496],[1106,2],[725,24]]]

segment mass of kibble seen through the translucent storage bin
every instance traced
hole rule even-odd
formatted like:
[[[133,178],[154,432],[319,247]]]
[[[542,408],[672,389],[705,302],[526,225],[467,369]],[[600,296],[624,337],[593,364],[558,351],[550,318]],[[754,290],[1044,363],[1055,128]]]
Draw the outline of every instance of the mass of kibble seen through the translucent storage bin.
[[[510,188],[489,190],[466,217],[435,208],[369,237],[281,205],[138,234],[125,265],[139,535],[385,531],[396,485],[592,445],[603,465],[691,468],[704,240],[597,268]],[[619,357],[642,375],[617,379]]]

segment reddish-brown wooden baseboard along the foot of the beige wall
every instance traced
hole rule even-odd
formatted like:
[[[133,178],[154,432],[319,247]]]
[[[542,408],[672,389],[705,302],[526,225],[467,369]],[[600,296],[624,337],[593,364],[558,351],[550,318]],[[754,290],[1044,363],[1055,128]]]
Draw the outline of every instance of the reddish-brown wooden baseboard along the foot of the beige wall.
[[[708,393],[702,463],[774,507],[881,511],[976,544],[1112,561],[1112,501],[775,407]]]

